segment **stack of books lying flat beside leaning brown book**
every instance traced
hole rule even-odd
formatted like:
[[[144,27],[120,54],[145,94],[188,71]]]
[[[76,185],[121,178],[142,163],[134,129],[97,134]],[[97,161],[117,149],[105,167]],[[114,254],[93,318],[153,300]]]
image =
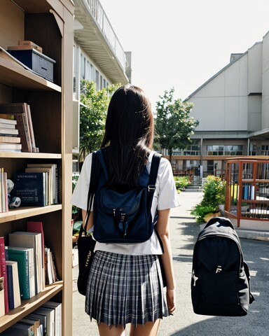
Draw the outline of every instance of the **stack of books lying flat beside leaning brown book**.
[[[12,115],[0,114],[0,151],[21,152],[17,120]]]

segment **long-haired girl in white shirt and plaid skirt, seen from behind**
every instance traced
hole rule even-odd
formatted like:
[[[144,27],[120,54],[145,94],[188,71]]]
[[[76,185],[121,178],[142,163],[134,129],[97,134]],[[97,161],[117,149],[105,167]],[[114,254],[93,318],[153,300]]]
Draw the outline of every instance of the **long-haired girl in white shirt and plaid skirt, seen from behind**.
[[[128,190],[137,187],[139,174],[146,165],[150,170],[153,151],[153,113],[143,90],[127,84],[111,97],[106,117],[102,148],[105,148],[109,187]],[[85,158],[72,196],[72,204],[82,209],[85,223],[92,155]],[[163,241],[164,253],[156,232],[139,244],[104,244],[96,242],[85,297],[85,311],[98,323],[100,336],[157,335],[160,319],[175,310],[175,280],[169,237],[170,209],[178,207],[170,162],[161,158],[156,191],[151,206],[156,230]],[[92,232],[90,212],[87,230]],[[158,255],[163,262],[167,288]]]

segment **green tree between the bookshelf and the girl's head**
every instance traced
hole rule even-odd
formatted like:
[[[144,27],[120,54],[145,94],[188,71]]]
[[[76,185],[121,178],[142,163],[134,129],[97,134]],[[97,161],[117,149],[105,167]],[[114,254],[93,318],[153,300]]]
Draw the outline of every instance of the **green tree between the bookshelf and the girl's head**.
[[[119,85],[110,85],[102,90],[96,90],[95,82],[81,80],[81,113],[80,113],[80,161],[88,153],[101,146],[104,136],[106,111],[111,94]]]

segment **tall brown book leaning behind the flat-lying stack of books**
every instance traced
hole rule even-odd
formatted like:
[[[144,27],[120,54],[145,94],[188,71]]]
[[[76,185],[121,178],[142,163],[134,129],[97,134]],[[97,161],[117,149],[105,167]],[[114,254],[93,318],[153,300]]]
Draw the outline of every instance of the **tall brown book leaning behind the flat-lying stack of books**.
[[[22,152],[32,152],[32,140],[30,138],[29,122],[26,103],[0,104],[0,113],[10,113],[17,121],[16,130],[21,138]],[[0,129],[1,130],[1,129]],[[15,131],[15,130],[14,130]],[[6,134],[3,133],[2,134]],[[14,134],[13,134],[14,135]]]

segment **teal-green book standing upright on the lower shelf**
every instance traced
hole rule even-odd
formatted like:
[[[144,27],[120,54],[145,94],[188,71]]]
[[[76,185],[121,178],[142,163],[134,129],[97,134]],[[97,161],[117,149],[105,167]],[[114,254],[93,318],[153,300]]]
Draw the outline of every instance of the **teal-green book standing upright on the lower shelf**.
[[[20,293],[22,300],[35,295],[34,248],[6,246],[6,260],[18,262]]]

